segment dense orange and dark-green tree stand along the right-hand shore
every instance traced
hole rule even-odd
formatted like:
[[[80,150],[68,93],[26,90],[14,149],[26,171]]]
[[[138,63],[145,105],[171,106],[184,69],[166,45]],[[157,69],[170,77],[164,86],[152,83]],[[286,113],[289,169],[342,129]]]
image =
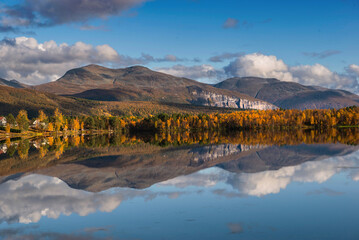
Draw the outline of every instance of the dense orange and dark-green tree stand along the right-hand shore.
[[[222,114],[159,114],[131,122],[138,130],[182,131],[188,129],[323,129],[337,126],[359,126],[359,108],[339,110],[251,110]]]

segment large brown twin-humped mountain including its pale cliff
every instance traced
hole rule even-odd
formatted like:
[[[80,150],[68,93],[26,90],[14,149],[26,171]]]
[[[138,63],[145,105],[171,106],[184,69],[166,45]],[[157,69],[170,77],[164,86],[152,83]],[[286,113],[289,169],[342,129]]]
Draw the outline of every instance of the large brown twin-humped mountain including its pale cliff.
[[[276,108],[239,92],[218,89],[141,66],[109,69],[89,65],[72,69],[59,80],[33,89],[98,101],[156,101],[227,108]]]

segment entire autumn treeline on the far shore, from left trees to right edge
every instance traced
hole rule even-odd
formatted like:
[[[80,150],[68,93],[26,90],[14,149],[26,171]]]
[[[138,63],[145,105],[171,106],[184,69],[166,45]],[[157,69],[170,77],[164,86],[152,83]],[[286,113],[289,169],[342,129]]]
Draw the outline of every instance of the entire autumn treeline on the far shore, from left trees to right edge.
[[[190,130],[250,130],[250,129],[324,129],[337,126],[359,126],[359,108],[339,110],[250,110],[214,114],[158,114],[136,116],[64,116],[58,109],[53,116],[39,111],[36,119],[29,121],[27,112],[21,110],[15,118],[7,116],[6,131],[17,128],[27,131],[85,131],[109,130],[115,132],[152,131],[183,132]]]

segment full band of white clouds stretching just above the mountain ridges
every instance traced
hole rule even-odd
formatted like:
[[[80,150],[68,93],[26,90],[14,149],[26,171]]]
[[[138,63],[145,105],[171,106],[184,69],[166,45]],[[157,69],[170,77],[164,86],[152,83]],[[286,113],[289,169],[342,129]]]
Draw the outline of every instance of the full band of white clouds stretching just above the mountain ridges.
[[[261,53],[223,53],[208,59],[213,63],[225,60],[232,61],[223,68],[215,68],[211,64],[188,66],[179,63],[198,62],[198,59],[180,58],[172,54],[154,57],[145,53],[140,57],[130,57],[118,53],[107,44],[93,46],[76,42],[70,45],[58,44],[53,40],[40,43],[28,37],[0,41],[0,77],[30,85],[57,80],[66,71],[88,64],[118,68],[137,64],[176,63],[172,67],[158,67],[155,70],[208,83],[229,77],[253,76],[359,93],[359,66],[355,64],[349,65],[343,73],[336,73],[319,63],[290,66],[274,55]]]

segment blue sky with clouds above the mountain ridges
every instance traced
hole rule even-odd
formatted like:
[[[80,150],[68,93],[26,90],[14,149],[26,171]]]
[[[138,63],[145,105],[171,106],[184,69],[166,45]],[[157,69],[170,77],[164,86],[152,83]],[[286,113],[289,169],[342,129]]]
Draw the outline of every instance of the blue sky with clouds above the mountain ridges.
[[[3,0],[0,77],[87,64],[216,83],[275,77],[359,93],[358,0]]]

